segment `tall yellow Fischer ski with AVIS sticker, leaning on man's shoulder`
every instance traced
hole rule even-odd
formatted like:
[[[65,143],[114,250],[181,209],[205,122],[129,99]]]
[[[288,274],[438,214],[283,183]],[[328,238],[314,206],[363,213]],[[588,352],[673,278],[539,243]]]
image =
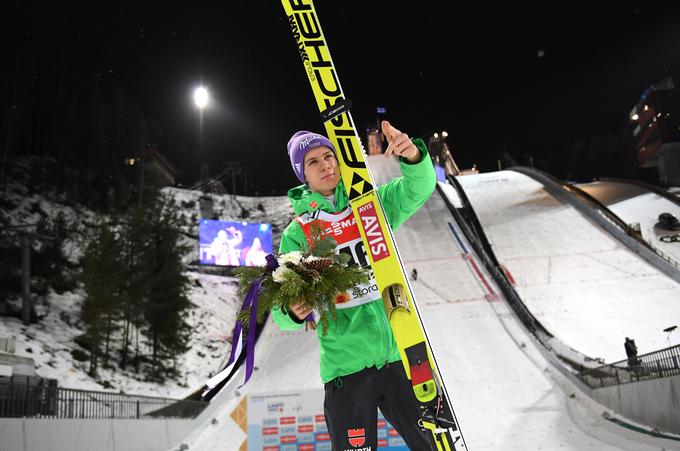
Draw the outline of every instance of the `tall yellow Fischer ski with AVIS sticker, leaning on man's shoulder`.
[[[281,0],[433,450],[467,450],[312,0]]]

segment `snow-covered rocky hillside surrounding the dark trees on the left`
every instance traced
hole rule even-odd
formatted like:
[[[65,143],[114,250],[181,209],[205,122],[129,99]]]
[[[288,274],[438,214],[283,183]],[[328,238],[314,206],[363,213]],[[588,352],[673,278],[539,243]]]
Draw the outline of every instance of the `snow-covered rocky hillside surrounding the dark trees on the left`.
[[[164,192],[173,196],[180,205],[185,205],[184,214],[191,221],[187,233],[198,235],[199,198],[205,196],[204,193],[177,188],[165,188]],[[207,196],[212,198],[213,210],[219,219],[272,224],[275,246],[278,246],[283,227],[293,216],[285,196]],[[86,209],[66,205],[57,194],[29,194],[26,186],[17,181],[9,184],[3,197],[16,206],[11,211],[3,211],[12,224],[32,224],[41,215],[55,217],[63,212],[67,220],[76,221],[76,226],[84,229],[84,222],[92,222],[95,218]],[[82,255],[84,245],[83,235],[74,234],[74,237],[65,244],[72,262]],[[186,240],[192,244],[193,250],[185,256],[185,261],[195,261],[198,259],[198,240]],[[79,321],[84,295],[81,289],[63,294],[50,291],[40,306],[45,317],[36,324],[24,326],[17,318],[0,316],[0,337],[14,338],[15,354],[34,359],[38,376],[57,379],[59,386],[64,388],[184,398],[200,389],[228,358],[231,332],[241,307],[241,299],[236,296],[235,278],[210,274],[197,266],[192,268],[186,274],[190,281],[188,297],[193,307],[188,311],[186,320],[193,333],[189,351],[178,359],[180,376],[176,380],[167,380],[162,385],[144,381],[131,370],[117,368],[119,357],[116,354],[110,361],[114,368],[100,364],[98,376],[90,377],[87,374],[88,362],[78,362],[71,355],[73,350],[79,349],[74,338],[84,333]]]

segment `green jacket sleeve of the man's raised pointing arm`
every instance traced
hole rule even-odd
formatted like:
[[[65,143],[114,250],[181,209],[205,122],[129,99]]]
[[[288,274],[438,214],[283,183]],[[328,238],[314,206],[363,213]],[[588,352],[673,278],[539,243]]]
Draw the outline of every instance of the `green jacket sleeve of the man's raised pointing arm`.
[[[408,163],[400,159],[401,177],[378,186],[387,220],[392,230],[397,230],[430,198],[437,183],[432,160],[422,139],[412,140],[420,151],[420,161]]]

